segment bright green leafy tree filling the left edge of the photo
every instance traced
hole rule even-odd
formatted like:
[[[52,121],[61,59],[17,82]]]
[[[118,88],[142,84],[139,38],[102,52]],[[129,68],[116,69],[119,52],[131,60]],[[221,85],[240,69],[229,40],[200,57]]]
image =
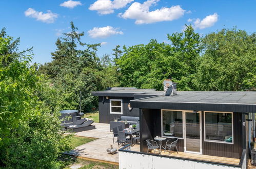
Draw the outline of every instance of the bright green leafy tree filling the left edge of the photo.
[[[43,89],[32,50],[18,51],[19,39],[0,34],[0,167],[58,168],[70,151],[70,135],[61,132],[59,113],[52,112],[37,91]],[[4,112],[4,113],[3,113]]]

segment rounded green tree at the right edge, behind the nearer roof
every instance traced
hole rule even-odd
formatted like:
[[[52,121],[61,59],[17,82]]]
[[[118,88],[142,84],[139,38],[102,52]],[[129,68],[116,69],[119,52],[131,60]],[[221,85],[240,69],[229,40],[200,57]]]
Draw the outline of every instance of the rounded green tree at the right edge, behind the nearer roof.
[[[256,34],[222,29],[207,34],[194,83],[198,90],[243,91],[256,86]]]

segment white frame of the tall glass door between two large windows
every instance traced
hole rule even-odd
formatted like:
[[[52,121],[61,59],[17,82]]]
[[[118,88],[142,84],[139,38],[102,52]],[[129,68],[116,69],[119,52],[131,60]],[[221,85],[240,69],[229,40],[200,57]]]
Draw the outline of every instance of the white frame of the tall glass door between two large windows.
[[[187,147],[186,147],[186,113],[193,113],[193,111],[183,111],[184,114],[184,152],[185,153],[193,153],[193,154],[203,154],[203,139],[202,139],[202,112],[196,112],[199,113],[199,125],[200,125],[200,152],[191,152],[191,151],[187,151]]]

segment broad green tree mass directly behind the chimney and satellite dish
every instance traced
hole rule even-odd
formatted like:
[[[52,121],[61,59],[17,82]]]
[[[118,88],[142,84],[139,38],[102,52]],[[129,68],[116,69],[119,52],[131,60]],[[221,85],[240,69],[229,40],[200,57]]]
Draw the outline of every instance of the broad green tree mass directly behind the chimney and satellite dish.
[[[179,90],[194,89],[192,79],[201,52],[199,34],[187,26],[184,33],[167,37],[170,45],[151,39],[147,45],[124,47],[117,60],[121,86],[163,90],[163,80],[172,76]]]

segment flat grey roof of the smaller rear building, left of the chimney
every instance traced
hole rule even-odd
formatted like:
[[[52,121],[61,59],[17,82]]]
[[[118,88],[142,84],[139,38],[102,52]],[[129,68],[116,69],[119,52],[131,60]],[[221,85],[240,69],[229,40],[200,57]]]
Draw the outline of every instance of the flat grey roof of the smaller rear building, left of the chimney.
[[[111,88],[110,90],[91,92],[93,96],[112,96],[112,97],[134,97],[134,94],[163,94],[163,91],[155,89],[136,89],[136,88]]]

